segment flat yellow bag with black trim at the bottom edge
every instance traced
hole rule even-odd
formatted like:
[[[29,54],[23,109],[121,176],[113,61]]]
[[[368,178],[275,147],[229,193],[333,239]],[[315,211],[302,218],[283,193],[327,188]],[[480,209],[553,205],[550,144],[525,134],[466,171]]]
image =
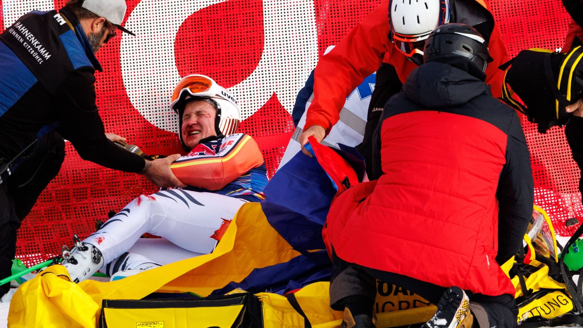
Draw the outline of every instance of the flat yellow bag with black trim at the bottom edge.
[[[249,293],[199,297],[154,293],[147,299],[104,299],[100,328],[262,328],[261,302]]]

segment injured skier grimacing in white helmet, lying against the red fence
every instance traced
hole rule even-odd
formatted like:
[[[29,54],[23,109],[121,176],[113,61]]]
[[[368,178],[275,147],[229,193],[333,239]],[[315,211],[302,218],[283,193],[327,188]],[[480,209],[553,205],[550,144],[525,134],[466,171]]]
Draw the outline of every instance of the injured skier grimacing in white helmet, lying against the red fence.
[[[265,198],[263,156],[254,139],[235,133],[240,109],[227,90],[208,76],[189,75],[174,89],[170,106],[178,114],[182,147],[189,151],[170,169],[188,187],[135,198],[77,243],[62,263],[72,281],[98,270],[113,278],[118,271],[160,266],[127,252],[146,232],[191,252],[211,253],[217,240],[210,236],[223,219],[232,219],[244,203]]]

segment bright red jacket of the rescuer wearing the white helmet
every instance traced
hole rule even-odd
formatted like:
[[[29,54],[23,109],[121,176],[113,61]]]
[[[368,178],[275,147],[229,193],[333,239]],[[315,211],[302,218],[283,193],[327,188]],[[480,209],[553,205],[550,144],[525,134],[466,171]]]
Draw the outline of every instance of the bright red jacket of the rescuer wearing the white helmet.
[[[476,2],[490,10],[487,2]],[[388,0],[385,0],[346,34],[330,53],[319,58],[314,73],[314,100],[308,108],[304,130],[311,125],[321,125],[329,131],[338,122],[346,97],[364,78],[376,71],[381,62],[394,66],[401,82],[405,82],[417,65],[407,60],[389,41],[390,29]],[[508,60],[508,52],[497,25],[491,33],[489,48],[494,61],[486,69],[486,83],[491,85],[494,96],[499,97],[504,72],[498,66]]]

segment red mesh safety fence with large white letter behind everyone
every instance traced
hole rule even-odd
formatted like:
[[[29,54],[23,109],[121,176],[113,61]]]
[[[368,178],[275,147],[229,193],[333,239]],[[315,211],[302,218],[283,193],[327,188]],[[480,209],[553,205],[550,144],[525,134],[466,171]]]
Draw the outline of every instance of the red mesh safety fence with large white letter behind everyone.
[[[2,0],[0,32],[31,10],[60,8],[65,0]],[[97,57],[97,106],[106,131],[149,154],[181,152],[168,110],[181,76],[212,76],[240,100],[241,132],[261,147],[271,177],[293,132],[291,108],[326,47],[338,43],[380,1],[367,0],[129,0],[125,26],[136,37],[113,39]],[[556,0],[491,1],[511,57],[519,50],[555,50],[568,15]],[[562,128],[540,135],[525,122],[532,153],[536,203],[560,235],[568,218],[582,218],[579,173]],[[101,168],[79,158],[70,144],[61,172],[19,229],[17,256],[38,263],[94,231],[97,219],[156,188],[141,176]]]

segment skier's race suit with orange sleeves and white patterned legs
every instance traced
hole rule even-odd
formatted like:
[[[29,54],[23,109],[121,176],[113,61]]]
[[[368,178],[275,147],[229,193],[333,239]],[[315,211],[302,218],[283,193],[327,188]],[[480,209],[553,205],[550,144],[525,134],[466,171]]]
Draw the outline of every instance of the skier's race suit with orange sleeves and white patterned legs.
[[[241,205],[265,198],[265,162],[257,143],[246,134],[203,142],[170,168],[189,187],[139,196],[83,240],[100,250],[108,274],[145,268],[146,263],[159,265],[127,253],[146,232],[191,252],[209,254],[217,243],[211,236],[222,222],[233,219]]]

